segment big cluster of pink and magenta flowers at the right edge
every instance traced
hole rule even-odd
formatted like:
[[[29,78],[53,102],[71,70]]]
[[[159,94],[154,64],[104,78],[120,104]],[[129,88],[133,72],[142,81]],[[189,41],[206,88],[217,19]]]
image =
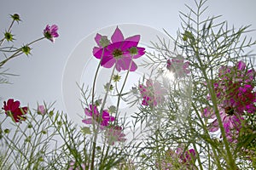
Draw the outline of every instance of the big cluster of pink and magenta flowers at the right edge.
[[[237,142],[242,124],[245,124],[244,113],[254,114],[256,111],[254,76],[255,71],[247,70],[246,64],[239,61],[235,66],[222,66],[218,72],[219,80],[213,84],[218,98],[218,112],[230,142]],[[210,97],[209,95],[208,99]],[[214,119],[209,124],[210,132],[216,132],[219,129],[212,107],[208,106],[204,109],[203,117]]]

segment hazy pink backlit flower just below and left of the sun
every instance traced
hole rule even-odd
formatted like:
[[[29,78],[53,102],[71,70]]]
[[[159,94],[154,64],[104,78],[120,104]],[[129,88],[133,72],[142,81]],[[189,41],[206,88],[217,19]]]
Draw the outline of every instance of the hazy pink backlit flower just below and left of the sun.
[[[147,80],[146,86],[140,84],[139,90],[143,97],[142,105],[149,105],[151,107],[162,103],[164,94],[166,94],[166,88],[163,88],[160,82],[153,82],[151,79]]]

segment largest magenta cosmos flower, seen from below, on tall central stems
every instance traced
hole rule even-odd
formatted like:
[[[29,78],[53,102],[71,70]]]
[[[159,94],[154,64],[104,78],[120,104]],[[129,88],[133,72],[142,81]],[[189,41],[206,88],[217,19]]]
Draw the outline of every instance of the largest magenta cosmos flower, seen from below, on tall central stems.
[[[101,65],[111,68],[115,65],[117,71],[136,71],[137,65],[132,59],[137,59],[145,54],[145,48],[137,47],[140,36],[124,38],[117,27],[113,32],[110,42],[107,37],[96,35],[99,47],[93,48],[93,55],[101,59]]]

